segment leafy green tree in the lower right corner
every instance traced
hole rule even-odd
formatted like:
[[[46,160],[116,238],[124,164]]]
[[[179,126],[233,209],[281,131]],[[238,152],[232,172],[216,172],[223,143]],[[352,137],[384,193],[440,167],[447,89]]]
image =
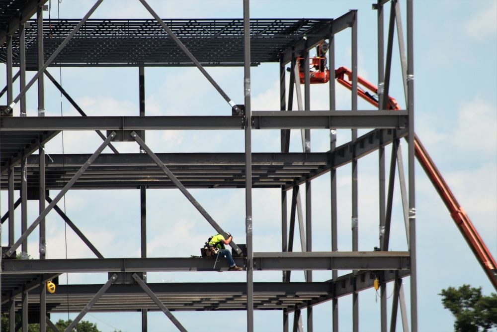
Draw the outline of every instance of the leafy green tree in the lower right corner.
[[[442,296],[443,307],[456,319],[454,331],[479,332],[497,327],[497,294],[483,296],[481,287],[462,285],[459,289],[442,289],[438,295]]]

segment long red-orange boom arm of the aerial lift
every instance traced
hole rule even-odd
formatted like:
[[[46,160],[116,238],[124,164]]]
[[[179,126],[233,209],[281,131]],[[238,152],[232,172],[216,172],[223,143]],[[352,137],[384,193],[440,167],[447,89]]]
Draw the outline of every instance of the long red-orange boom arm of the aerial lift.
[[[345,80],[345,76],[347,76],[348,81]],[[349,90],[352,90],[352,72],[348,68],[340,67],[336,69],[335,78],[338,83],[348,88]],[[374,94],[378,93],[377,87],[359,76],[357,76],[357,83],[369,89]],[[358,87],[357,94],[364,100],[368,101],[370,104],[378,107],[378,101],[367,91]],[[397,104],[397,101],[389,96],[387,109],[400,110],[401,108],[399,107],[399,104]],[[497,264],[494,257],[492,257],[490,250],[487,248],[482,238],[476,231],[473,223],[469,219],[468,215],[466,215],[464,209],[459,205],[459,203],[457,203],[457,200],[450,191],[449,186],[436,168],[433,160],[431,160],[428,152],[426,152],[426,149],[423,147],[416,134],[414,134],[414,152],[417,161],[419,161],[419,163],[421,164],[422,168],[431,180],[431,183],[437,190],[438,195],[440,195],[442,201],[445,203],[445,206],[449,210],[450,216],[456,222],[459,230],[466,239],[466,242],[468,242],[469,246],[473,250],[473,253],[487,273],[490,281],[497,289]]]

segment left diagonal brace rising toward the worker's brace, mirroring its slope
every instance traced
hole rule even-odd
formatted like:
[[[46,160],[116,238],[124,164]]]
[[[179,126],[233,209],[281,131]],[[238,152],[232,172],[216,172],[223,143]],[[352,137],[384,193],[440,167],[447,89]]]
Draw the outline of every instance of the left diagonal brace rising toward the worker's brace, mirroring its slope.
[[[88,158],[88,160],[84,163],[84,165],[81,166],[80,170],[73,176],[73,178],[67,183],[67,185],[60,191],[60,193],[57,194],[57,196],[54,198],[52,203],[50,203],[48,205],[48,207],[46,207],[46,209],[43,210],[43,212],[40,214],[40,216],[38,218],[36,218],[36,220],[31,224],[31,226],[29,226],[26,229],[26,231],[21,235],[21,237],[19,237],[17,242],[15,242],[10,247],[10,249],[8,249],[5,252],[5,256],[10,257],[10,255],[15,251],[15,249],[17,249],[19,247],[19,245],[21,245],[21,243],[24,242],[24,240],[29,236],[29,234],[31,234],[31,232],[36,228],[36,226],[38,226],[38,224],[48,215],[48,213],[55,207],[55,205],[57,203],[59,203],[61,198],[64,195],[66,195],[66,193],[69,191],[69,189],[71,189],[71,187],[76,183],[76,181],[83,175],[84,171],[86,171],[86,169],[91,165],[91,163],[93,161],[95,161],[96,157],[98,157],[98,155],[100,153],[102,153],[103,149],[105,149],[105,147],[107,145],[109,145],[110,141],[112,139],[114,139],[115,135],[116,135],[115,131],[112,131],[110,133],[109,137],[107,137],[107,139],[98,147],[98,149],[95,151],[95,153],[93,153]]]

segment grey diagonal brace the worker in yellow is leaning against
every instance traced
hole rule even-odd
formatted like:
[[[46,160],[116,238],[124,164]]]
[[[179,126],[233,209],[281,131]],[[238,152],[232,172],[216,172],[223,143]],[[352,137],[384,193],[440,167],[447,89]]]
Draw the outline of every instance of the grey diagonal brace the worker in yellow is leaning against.
[[[190,201],[190,203],[193,204],[193,206],[198,210],[198,212],[200,212],[200,214],[207,221],[209,221],[209,223],[212,225],[212,227],[214,227],[214,229],[219,234],[223,235],[224,238],[228,238],[228,234],[226,234],[226,232],[217,224],[216,221],[214,221],[214,219],[212,219],[212,217],[207,213],[207,211],[205,211],[205,209],[202,208],[202,206],[197,202],[197,200],[195,200],[195,198],[188,192],[188,190],[186,190],[185,186],[183,186],[183,184],[174,176],[174,174],[172,174],[172,172],[161,161],[161,159],[159,159],[159,157],[154,152],[152,152],[152,150],[147,146],[147,144],[145,144],[145,142],[140,138],[140,136],[138,136],[138,134],[135,131],[132,131],[130,135],[138,143],[138,145],[140,145],[140,147],[145,152],[147,152],[147,154],[150,156],[150,158],[152,158],[152,160],[154,160],[154,162],[164,171],[164,173],[166,173],[166,175],[169,177],[169,179],[171,179],[172,183],[176,187],[178,187],[179,191],[181,191],[181,193],[183,193],[183,195],[188,199],[188,201]],[[240,249],[238,247],[238,245],[236,245],[236,243],[233,242],[233,240],[230,242],[230,246],[233,249],[235,249],[235,251],[238,254],[242,253],[242,249]]]

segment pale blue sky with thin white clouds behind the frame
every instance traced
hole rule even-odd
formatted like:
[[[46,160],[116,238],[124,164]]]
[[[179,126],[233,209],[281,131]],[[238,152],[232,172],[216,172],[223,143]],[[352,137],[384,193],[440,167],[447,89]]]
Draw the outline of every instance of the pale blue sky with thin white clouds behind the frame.
[[[377,82],[376,11],[371,0],[251,0],[252,18],[336,18],[349,9],[358,9],[358,71],[372,83]],[[94,1],[52,1],[52,17],[81,18]],[[164,18],[239,18],[243,16],[241,0],[163,0],[149,1]],[[407,31],[406,2],[401,1],[404,32]],[[388,18],[390,5],[385,7]],[[59,11],[59,14],[58,14]],[[138,0],[104,0],[93,18],[149,18]],[[387,26],[387,21],[385,21]],[[350,66],[350,32],[336,37],[335,65]],[[397,44],[395,44],[397,47]],[[4,66],[0,66],[4,72]],[[54,77],[59,69],[51,68]],[[242,68],[208,68],[208,72],[236,103],[243,103]],[[222,115],[229,107],[196,68],[147,68],[146,105],[149,115],[207,114]],[[390,95],[405,107],[400,80],[397,48],[393,58]],[[137,115],[138,69],[63,68],[62,85],[88,115]],[[252,110],[278,110],[278,66],[264,64],[251,70]],[[62,101],[46,80],[47,115],[77,115]],[[497,257],[497,1],[496,0],[417,0],[414,1],[414,108],[415,131],[442,173],[459,204],[466,210],[494,257]],[[36,115],[35,91],[28,93],[28,115]],[[29,97],[30,96],[30,97]],[[204,101],[204,109],[192,107]],[[326,87],[313,86],[311,109],[326,110]],[[350,108],[350,92],[337,91],[337,109]],[[360,102],[359,109],[371,109]],[[14,109],[14,114],[18,110]],[[279,151],[278,131],[253,131],[254,152]],[[326,130],[312,131],[312,150],[329,147]],[[350,139],[349,130],[338,131],[338,143]],[[291,151],[301,149],[298,132],[292,132]],[[94,132],[65,132],[65,153],[92,153],[101,140]],[[242,131],[155,131],[147,133],[147,143],[155,152],[243,152]],[[47,144],[48,153],[62,151],[62,137]],[[120,152],[138,152],[134,143],[117,143]],[[407,143],[402,144],[407,165]],[[387,149],[387,155],[389,154]],[[106,150],[106,153],[111,153]],[[359,250],[378,245],[378,208],[376,193],[377,154],[359,161]],[[423,170],[416,164],[416,236],[418,265],[419,331],[452,331],[453,317],[443,309],[442,288],[471,284],[481,286],[484,294],[495,292],[469,246],[464,241],[443,202],[439,199]],[[313,183],[313,250],[328,251],[330,244],[329,176]],[[398,188],[392,225],[392,250],[406,250],[405,231],[400,213]],[[245,197],[243,190],[192,190],[192,195],[237,242],[245,237]],[[350,234],[350,166],[338,170],[339,250],[351,250]],[[56,193],[51,193],[55,197]],[[6,193],[2,192],[2,215]],[[254,190],[254,251],[279,251],[279,190]],[[30,202],[29,222],[38,207]],[[211,226],[177,190],[149,190],[148,252],[151,257],[188,257],[198,255],[198,248],[213,233]],[[63,206],[62,202],[59,206]],[[105,257],[138,257],[139,192],[70,191],[65,198],[67,215]],[[20,220],[16,211],[16,221]],[[119,231],[116,227],[119,226]],[[64,231],[64,222],[55,212],[47,216],[49,258],[92,257],[89,249],[72,233]],[[20,226],[16,227],[18,230]],[[4,232],[2,241],[6,243]],[[35,232],[37,233],[37,232]],[[37,235],[29,237],[29,251],[37,256]],[[172,240],[171,240],[172,239]],[[67,242],[67,248],[65,243]],[[189,242],[189,243],[187,243]],[[191,245],[190,243],[197,243]],[[297,241],[298,243],[298,241]],[[345,272],[343,272],[345,273]],[[151,273],[149,282],[245,281],[245,273]],[[106,274],[69,275],[69,283],[103,283]],[[301,273],[292,274],[303,280]],[[331,278],[331,272],[315,272],[315,281]],[[64,278],[62,278],[64,280]],[[256,272],[255,281],[280,281],[281,273]],[[404,280],[409,302],[409,278]],[[389,285],[387,294],[392,287]],[[374,290],[359,295],[361,331],[379,329],[379,299]],[[340,330],[351,331],[351,299],[339,300]],[[390,312],[391,299],[388,300]],[[329,331],[331,304],[314,309],[314,330]],[[174,313],[188,331],[204,331],[204,322],[226,320],[234,331],[245,331],[246,313]],[[76,314],[71,314],[74,318]],[[305,315],[304,315],[305,316]],[[54,320],[59,316],[54,315]],[[67,315],[60,316],[67,318]],[[281,331],[281,313],[255,312],[256,331]],[[84,317],[97,323],[102,331],[139,331],[140,316],[126,314],[90,314]],[[229,323],[228,323],[229,322]],[[276,322],[276,323],[275,323]],[[306,326],[304,317],[304,326]],[[400,326],[400,322],[397,325]],[[175,331],[163,313],[149,314],[149,331]]]

